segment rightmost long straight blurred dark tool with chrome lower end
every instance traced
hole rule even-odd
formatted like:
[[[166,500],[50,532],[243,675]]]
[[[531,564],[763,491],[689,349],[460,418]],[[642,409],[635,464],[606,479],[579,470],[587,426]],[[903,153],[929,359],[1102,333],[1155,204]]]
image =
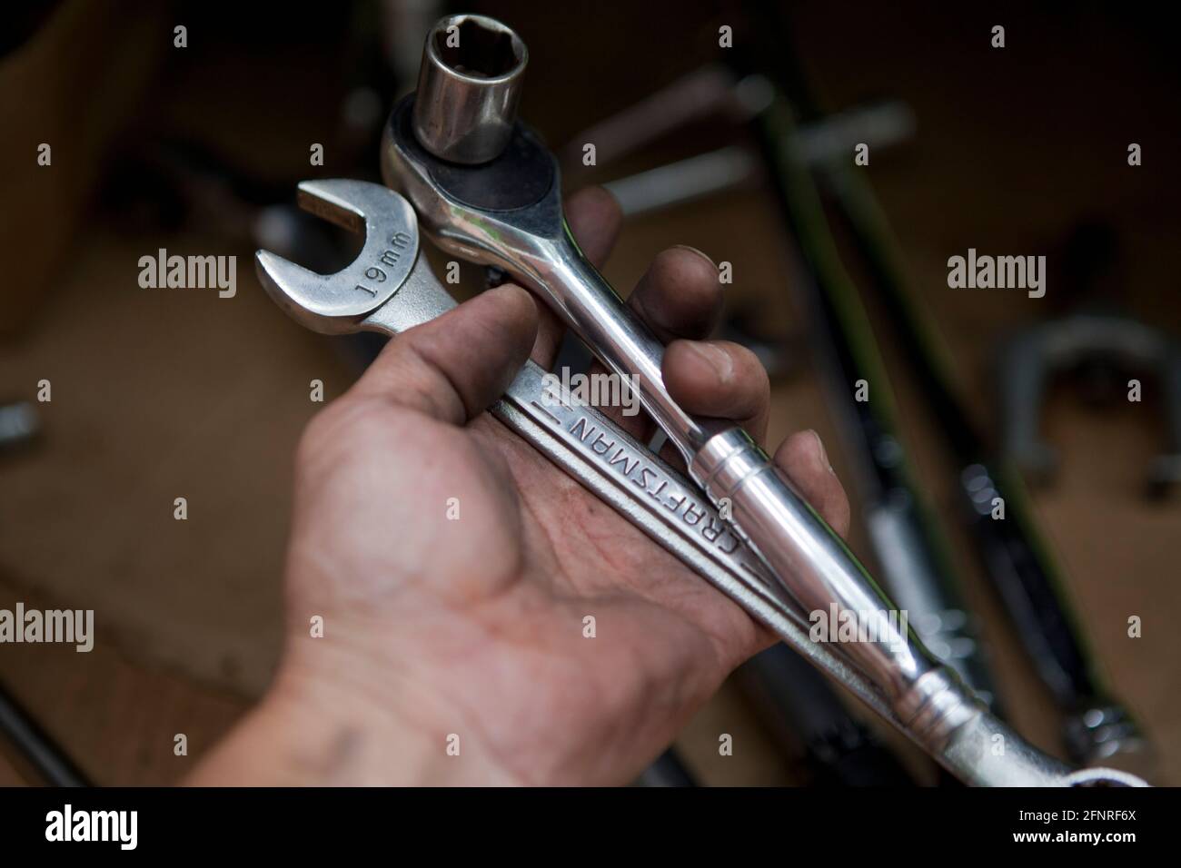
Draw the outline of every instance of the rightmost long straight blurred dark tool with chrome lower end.
[[[764,123],[781,132],[796,119],[808,123],[824,112],[814,97],[782,5],[750,4],[751,38],[790,106],[782,100]],[[785,136],[784,136],[785,139]],[[785,142],[784,148],[790,148]],[[788,158],[788,154],[781,154]],[[972,424],[952,366],[939,351],[935,332],[912,301],[900,248],[867,176],[847,157],[830,161],[817,180],[835,205],[859,265],[883,302],[937,430],[958,470],[955,494],[974,537],[990,582],[997,588],[1017,635],[1065,717],[1069,756],[1091,764],[1118,756],[1121,764],[1147,765],[1150,751],[1131,713],[1113,696],[1077,626],[1066,585],[1026,504],[1020,478],[997,461]],[[992,518],[992,502],[1005,502],[1004,521]]]

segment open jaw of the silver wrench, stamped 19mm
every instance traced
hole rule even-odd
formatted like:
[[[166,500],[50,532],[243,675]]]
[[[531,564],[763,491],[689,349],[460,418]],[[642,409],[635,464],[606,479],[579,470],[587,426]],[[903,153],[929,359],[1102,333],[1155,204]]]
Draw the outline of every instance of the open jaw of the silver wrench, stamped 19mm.
[[[322,334],[355,332],[402,288],[418,259],[418,220],[402,196],[347,178],[304,181],[299,205],[353,233],[360,255],[335,274],[318,274],[269,250],[255,254],[259,282],[301,325]]]

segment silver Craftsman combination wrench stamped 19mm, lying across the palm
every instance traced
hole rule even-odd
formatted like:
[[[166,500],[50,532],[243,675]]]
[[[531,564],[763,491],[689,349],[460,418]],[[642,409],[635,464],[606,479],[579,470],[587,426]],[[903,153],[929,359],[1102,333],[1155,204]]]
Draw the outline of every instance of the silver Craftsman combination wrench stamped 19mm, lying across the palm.
[[[300,205],[364,231],[365,244],[355,262],[333,275],[315,274],[265,250],[256,254],[260,281],[296,321],[326,334],[397,334],[455,307],[419,257],[415,213],[397,194],[359,181],[304,182]],[[541,376],[540,367],[527,363],[490,412],[958,777],[985,785],[1137,783],[1121,772],[1070,772],[978,706],[938,744],[913,719],[903,724],[866,673],[833,646],[810,641],[808,625],[790,599],[692,483],[594,409],[544,400]]]

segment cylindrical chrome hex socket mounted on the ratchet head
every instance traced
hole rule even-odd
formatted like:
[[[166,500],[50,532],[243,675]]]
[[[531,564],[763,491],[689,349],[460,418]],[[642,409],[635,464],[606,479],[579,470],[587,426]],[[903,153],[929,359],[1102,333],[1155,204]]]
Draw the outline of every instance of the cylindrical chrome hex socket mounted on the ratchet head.
[[[418,72],[418,143],[451,163],[498,157],[513,137],[528,60],[521,38],[496,19],[439,19],[426,34]]]

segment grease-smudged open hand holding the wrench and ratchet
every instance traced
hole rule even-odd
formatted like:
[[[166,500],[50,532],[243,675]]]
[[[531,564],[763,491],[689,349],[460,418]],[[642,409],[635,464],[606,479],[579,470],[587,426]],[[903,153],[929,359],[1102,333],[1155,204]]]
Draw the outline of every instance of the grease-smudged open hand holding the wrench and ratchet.
[[[603,260],[614,202],[585,190],[567,214]],[[628,306],[671,341],[664,378],[686,411],[764,436],[762,366],[704,340],[722,306],[704,255],[661,253]],[[296,457],[283,661],[195,783],[622,784],[772,641],[484,412],[530,351],[552,366],[561,333],[523,289],[491,289],[391,340],[313,419]],[[641,442],[653,430],[605,412]],[[846,533],[815,433],[775,461]]]

